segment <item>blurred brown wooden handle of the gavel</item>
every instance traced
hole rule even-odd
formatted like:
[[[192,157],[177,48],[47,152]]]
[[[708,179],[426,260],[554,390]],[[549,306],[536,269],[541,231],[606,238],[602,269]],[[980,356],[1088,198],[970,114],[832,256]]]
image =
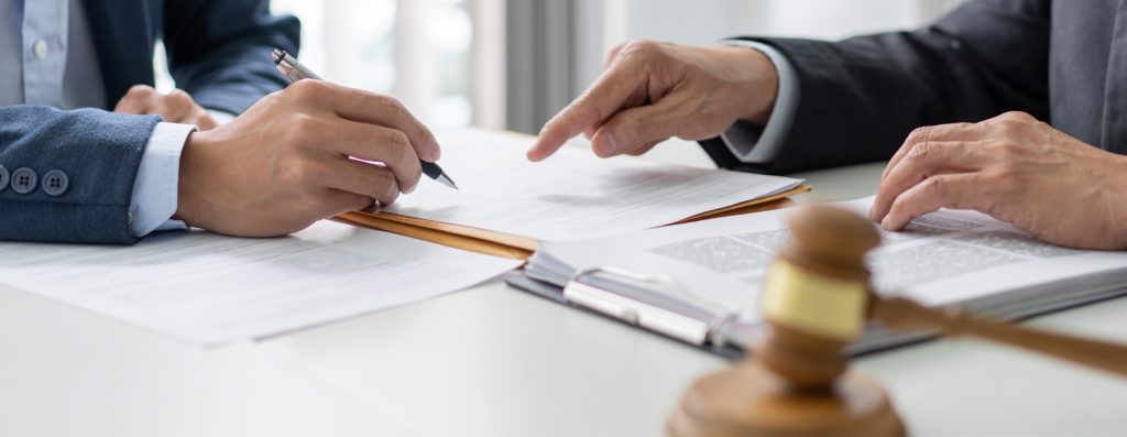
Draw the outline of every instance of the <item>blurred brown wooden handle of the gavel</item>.
[[[895,330],[939,330],[974,336],[1127,377],[1127,346],[1001,323],[958,309],[931,309],[904,297],[875,297],[872,316]]]

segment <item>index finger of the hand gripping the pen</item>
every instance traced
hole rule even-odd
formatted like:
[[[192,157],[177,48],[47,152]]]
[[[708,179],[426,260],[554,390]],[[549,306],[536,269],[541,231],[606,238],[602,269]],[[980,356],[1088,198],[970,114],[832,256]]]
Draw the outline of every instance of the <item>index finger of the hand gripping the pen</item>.
[[[442,149],[431,130],[419,122],[403,104],[389,96],[327,83],[326,96],[332,110],[341,118],[391,127],[407,134],[420,159],[438,161]]]

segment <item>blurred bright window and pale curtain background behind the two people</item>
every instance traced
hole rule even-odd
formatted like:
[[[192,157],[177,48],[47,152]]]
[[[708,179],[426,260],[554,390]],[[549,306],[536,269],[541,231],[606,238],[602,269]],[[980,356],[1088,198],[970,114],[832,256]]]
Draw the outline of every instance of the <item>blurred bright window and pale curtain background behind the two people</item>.
[[[621,42],[841,38],[914,28],[959,2],[273,0],[273,9],[301,18],[301,59],[326,79],[392,95],[436,131],[535,133],[598,75],[605,53]],[[175,84],[165,74],[158,86]]]

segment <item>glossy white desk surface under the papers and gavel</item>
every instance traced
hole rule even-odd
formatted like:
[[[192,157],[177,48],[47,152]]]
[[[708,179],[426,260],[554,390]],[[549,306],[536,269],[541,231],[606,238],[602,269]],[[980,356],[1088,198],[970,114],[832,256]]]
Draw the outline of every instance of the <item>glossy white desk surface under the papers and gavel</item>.
[[[845,199],[880,169],[802,176]],[[1127,339],[1127,298],[1030,323]],[[21,437],[658,436],[684,387],[726,365],[499,280],[218,349],[5,288],[0,328],[0,435]],[[933,341],[857,367],[917,436],[1127,430],[1127,382],[1005,347]]]

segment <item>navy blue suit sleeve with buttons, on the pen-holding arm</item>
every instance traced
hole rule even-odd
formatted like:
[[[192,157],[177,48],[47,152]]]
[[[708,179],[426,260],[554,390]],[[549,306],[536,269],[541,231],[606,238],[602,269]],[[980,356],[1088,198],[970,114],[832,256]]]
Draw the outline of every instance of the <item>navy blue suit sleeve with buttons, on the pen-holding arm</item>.
[[[133,243],[133,182],[158,116],[44,106],[0,107],[0,166],[37,176],[28,193],[0,186],[0,240]],[[60,170],[68,188],[47,194],[44,176]],[[9,178],[10,179],[10,178]],[[25,185],[26,187],[26,185]]]

